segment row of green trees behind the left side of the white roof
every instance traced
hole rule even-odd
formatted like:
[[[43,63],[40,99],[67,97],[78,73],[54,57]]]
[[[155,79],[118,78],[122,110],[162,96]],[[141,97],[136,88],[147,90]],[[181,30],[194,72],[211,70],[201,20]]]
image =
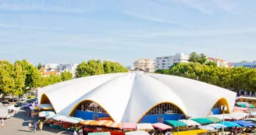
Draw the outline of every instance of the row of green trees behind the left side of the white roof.
[[[33,66],[27,60],[16,61],[14,64],[8,61],[0,61],[0,94],[20,95],[37,87],[45,87],[53,83],[59,83],[73,79],[73,74],[63,72],[60,75],[41,76],[41,64]],[[76,78],[83,76],[99,75],[104,73],[127,72],[127,69],[118,62],[101,62],[89,60],[82,62],[76,68]]]

